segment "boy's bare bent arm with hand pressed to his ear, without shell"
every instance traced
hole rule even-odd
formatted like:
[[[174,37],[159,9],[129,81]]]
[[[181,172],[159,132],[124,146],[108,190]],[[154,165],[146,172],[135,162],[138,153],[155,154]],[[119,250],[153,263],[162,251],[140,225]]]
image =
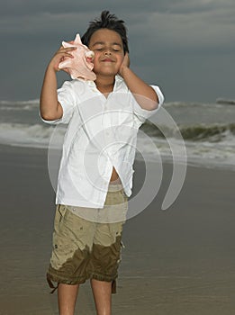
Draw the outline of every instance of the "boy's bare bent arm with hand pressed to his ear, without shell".
[[[149,111],[158,108],[158,95],[151,86],[147,85],[131,70],[129,64],[129,55],[126,53],[119,74],[123,77],[136,101],[140,104],[140,107]]]

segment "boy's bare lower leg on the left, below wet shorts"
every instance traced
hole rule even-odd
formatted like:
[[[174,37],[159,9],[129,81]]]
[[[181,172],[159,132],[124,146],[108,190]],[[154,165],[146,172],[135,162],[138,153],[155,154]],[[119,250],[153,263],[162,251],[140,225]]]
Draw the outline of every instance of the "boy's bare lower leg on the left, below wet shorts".
[[[79,285],[59,284],[59,315],[74,315]]]

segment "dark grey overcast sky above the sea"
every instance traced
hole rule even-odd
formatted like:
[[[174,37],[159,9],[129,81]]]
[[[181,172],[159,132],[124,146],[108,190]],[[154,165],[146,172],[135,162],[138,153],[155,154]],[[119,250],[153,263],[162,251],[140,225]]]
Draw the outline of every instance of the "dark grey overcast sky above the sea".
[[[7,0],[0,10],[1,100],[39,98],[45,68],[109,10],[128,27],[131,68],[167,102],[235,99],[234,0]],[[59,73],[59,85],[66,74]]]

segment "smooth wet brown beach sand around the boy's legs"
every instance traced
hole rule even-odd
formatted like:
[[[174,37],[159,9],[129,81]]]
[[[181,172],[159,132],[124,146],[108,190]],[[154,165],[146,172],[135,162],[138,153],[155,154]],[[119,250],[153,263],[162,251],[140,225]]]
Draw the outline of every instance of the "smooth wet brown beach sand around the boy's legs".
[[[0,146],[0,154],[0,315],[57,314],[45,281],[54,217],[47,150]],[[133,194],[145,175],[143,163],[134,168]],[[125,223],[113,315],[232,315],[235,173],[188,166],[176,202],[161,211],[171,173],[164,164],[158,195]],[[88,283],[77,310],[95,314]]]

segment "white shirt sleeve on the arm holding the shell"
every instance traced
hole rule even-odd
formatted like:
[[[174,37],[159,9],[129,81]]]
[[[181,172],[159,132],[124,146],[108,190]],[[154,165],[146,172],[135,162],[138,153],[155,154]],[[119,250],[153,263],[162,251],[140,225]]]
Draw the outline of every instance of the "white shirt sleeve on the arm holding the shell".
[[[49,124],[68,123],[73,115],[76,106],[76,100],[71,81],[64,82],[64,84],[57,90],[57,93],[58,101],[63,109],[63,115],[61,118],[55,121],[46,121],[41,117],[42,121]]]

